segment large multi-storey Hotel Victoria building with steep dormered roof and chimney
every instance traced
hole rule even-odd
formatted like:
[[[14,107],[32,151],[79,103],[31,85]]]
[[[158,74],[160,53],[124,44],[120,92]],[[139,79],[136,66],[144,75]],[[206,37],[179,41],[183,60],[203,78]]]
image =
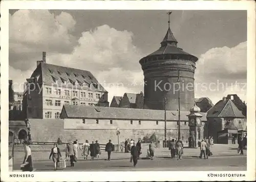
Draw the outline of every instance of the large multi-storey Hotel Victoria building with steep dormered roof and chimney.
[[[45,52],[26,85],[26,118],[58,119],[63,104],[109,106],[108,92],[91,72],[48,64]]]

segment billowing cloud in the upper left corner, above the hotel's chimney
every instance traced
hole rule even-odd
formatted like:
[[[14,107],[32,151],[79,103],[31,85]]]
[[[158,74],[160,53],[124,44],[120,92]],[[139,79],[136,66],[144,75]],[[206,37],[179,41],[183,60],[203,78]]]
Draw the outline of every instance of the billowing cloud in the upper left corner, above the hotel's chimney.
[[[71,52],[75,37],[70,31],[75,24],[65,12],[54,15],[48,10],[18,10],[9,14],[10,65],[26,71],[42,51]]]

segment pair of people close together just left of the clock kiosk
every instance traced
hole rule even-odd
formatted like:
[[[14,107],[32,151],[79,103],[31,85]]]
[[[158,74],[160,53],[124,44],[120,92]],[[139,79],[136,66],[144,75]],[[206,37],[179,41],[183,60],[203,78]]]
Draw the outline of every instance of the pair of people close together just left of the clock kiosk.
[[[170,156],[174,158],[177,155],[177,159],[182,159],[183,154],[183,143],[181,139],[178,140],[172,140],[172,142],[169,143],[169,150],[170,150]]]

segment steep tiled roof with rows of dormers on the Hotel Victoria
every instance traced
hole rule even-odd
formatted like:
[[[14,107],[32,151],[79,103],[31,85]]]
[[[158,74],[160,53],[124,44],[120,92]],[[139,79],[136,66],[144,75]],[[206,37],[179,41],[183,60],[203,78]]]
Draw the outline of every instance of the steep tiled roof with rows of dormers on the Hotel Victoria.
[[[87,86],[89,86],[90,83],[94,83],[95,85],[99,85],[99,87],[96,89],[96,86],[92,84],[93,89],[106,92],[103,86],[99,84],[97,79],[89,71],[48,63],[41,63],[41,69],[42,82],[44,83],[54,84],[54,79],[57,79],[61,84],[64,84],[64,81],[68,83],[77,82],[77,87],[80,87],[79,83],[84,83]]]

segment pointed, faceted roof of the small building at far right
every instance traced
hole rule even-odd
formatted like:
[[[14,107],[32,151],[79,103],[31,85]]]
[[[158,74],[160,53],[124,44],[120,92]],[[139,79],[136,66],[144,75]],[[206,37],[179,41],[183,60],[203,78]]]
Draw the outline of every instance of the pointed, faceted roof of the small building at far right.
[[[207,112],[207,118],[245,118],[242,112],[228,99],[220,100]]]

